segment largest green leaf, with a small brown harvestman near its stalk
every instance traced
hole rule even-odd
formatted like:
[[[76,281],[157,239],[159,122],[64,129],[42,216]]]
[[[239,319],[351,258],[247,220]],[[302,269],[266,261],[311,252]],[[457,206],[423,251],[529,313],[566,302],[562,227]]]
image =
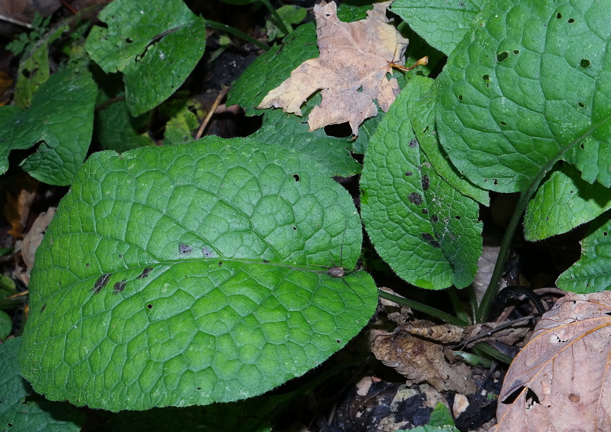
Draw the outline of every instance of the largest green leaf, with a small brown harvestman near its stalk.
[[[342,348],[377,305],[348,192],[251,139],[92,155],[37,251],[21,371],[121,409],[262,394]]]

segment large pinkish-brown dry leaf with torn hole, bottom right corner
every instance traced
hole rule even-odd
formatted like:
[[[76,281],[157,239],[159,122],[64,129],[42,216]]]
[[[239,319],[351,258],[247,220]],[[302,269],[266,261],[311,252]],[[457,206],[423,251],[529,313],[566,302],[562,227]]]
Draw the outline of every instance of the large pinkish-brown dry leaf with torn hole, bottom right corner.
[[[611,293],[560,299],[503,383],[489,432],[611,431]]]

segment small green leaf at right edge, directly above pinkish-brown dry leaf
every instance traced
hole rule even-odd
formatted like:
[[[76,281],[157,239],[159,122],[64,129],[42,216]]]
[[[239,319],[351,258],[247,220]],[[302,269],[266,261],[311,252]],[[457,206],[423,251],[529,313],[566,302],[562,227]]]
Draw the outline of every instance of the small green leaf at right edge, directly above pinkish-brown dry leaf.
[[[556,281],[558,288],[573,293],[611,290],[611,220],[602,214],[581,241],[581,257]]]

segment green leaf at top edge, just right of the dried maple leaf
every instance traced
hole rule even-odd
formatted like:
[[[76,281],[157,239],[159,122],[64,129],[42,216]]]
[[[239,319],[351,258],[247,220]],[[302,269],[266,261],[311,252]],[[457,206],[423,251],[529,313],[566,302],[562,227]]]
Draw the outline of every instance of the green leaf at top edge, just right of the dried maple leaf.
[[[433,48],[447,56],[469,30],[485,0],[396,0],[390,10],[401,16]]]

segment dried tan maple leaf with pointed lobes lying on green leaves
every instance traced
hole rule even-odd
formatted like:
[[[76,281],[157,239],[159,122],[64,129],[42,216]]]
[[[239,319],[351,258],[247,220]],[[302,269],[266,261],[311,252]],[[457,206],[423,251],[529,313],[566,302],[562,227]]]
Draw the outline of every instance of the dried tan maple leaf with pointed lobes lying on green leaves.
[[[301,116],[301,104],[322,89],[323,101],[308,117],[310,131],[349,122],[354,135],[359,125],[384,112],[399,93],[392,67],[403,65],[408,39],[386,21],[391,1],[376,3],[365,20],[344,23],[335,2],[314,6],[320,57],[303,62],[290,78],[271,90],[257,108],[282,108]]]

